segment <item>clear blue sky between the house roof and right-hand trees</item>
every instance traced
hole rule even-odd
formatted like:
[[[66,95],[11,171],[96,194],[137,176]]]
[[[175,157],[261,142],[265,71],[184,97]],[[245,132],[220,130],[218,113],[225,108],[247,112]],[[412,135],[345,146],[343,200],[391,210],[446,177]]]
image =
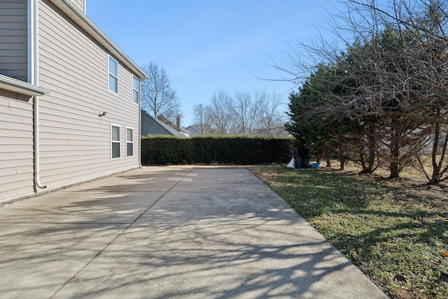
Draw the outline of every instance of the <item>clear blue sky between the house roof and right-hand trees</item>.
[[[296,86],[260,78],[283,76],[269,64],[287,60],[289,44],[330,35],[337,8],[337,0],[87,0],[87,16],[134,62],[165,67],[183,127],[218,90],[276,92],[287,104]]]

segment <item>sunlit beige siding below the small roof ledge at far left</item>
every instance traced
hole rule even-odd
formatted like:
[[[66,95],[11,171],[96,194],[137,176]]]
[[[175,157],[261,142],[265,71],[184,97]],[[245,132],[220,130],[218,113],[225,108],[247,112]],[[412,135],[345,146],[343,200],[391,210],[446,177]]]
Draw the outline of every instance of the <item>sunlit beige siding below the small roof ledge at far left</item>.
[[[34,192],[33,102],[0,89],[0,202]]]

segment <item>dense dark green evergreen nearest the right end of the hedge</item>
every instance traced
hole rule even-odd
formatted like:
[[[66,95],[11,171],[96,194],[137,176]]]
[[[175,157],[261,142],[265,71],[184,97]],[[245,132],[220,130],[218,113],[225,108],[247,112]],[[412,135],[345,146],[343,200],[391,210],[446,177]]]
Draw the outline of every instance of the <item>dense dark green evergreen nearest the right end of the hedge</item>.
[[[328,96],[347,90],[346,83],[339,83],[339,73],[335,67],[322,64],[297,92],[290,94],[290,122],[286,130],[295,137],[297,147],[309,148],[316,160],[325,159],[327,166],[330,158],[337,158],[343,169],[350,158],[351,143],[356,140],[356,122],[332,115],[325,107]]]

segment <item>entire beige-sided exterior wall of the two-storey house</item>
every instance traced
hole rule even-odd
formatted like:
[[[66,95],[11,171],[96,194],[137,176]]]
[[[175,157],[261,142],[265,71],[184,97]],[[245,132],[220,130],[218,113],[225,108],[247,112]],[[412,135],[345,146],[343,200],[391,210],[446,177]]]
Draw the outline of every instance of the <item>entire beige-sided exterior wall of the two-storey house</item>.
[[[0,0],[0,203],[140,166],[132,72],[140,79],[144,72],[68,0],[36,4],[34,27],[33,1]],[[37,51],[29,29],[38,32]],[[117,56],[118,93],[108,87],[109,51]],[[10,61],[24,62],[22,71]],[[111,125],[120,127],[119,158],[112,158]]]

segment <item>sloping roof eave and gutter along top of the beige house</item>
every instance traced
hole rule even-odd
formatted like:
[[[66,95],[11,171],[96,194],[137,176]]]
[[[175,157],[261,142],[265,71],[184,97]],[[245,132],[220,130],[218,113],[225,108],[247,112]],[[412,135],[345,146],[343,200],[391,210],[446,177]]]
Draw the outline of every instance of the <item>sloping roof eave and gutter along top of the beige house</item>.
[[[53,5],[59,8],[62,12],[73,20],[79,27],[81,27],[85,32],[90,34],[95,41],[101,44],[106,50],[115,56],[120,62],[122,62],[126,67],[128,67],[134,74],[136,74],[140,79],[148,78],[148,75],[142,71],[135,62],[133,62],[130,57],[128,57],[123,50],[118,48],[118,46],[109,39],[106,34],[104,34],[97,25],[87,18],[87,16],[81,12],[76,6],[69,0],[49,0]]]

